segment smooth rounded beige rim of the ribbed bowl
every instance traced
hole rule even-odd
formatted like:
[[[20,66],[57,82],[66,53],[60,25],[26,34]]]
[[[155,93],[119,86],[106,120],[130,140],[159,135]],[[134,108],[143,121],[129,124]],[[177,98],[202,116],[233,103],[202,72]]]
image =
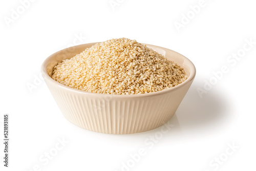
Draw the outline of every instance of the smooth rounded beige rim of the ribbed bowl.
[[[93,43],[88,43],[88,44],[91,44],[92,46],[97,44],[97,43],[100,43],[100,42],[93,42]],[[168,92],[172,92],[172,91],[175,91],[177,89],[180,89],[182,88],[183,86],[185,86],[186,84],[188,84],[190,81],[193,81],[195,76],[196,76],[196,68],[194,66],[194,63],[191,62],[187,57],[183,56],[182,54],[176,52],[176,51],[173,51],[173,50],[170,50],[170,49],[167,49],[167,48],[163,48],[163,47],[159,47],[159,46],[155,46],[155,45],[150,45],[150,44],[144,44],[144,43],[141,43],[143,45],[148,45],[148,46],[152,46],[152,47],[157,47],[157,48],[160,48],[160,49],[163,49],[163,50],[168,50],[168,51],[173,51],[174,53],[177,53],[178,55],[180,55],[184,60],[186,60],[188,62],[188,69],[190,71],[190,74],[189,76],[187,77],[187,79],[180,83],[179,85],[175,86],[175,87],[172,87],[172,88],[168,88],[166,90],[161,90],[161,91],[158,91],[158,92],[152,92],[152,93],[144,93],[144,94],[129,94],[129,95],[122,95],[122,94],[101,94],[101,93],[93,93],[93,92],[86,92],[86,91],[82,91],[82,90],[77,90],[77,89],[74,89],[74,88],[71,88],[71,87],[68,87],[68,86],[65,86],[57,81],[55,81],[54,79],[52,79],[46,72],[46,66],[48,65],[49,61],[51,61],[51,58],[55,56],[55,54],[61,52],[61,51],[67,51],[68,49],[71,49],[71,48],[75,48],[75,47],[78,47],[78,46],[84,46],[84,45],[88,45],[88,44],[81,44],[81,45],[76,45],[76,46],[72,46],[72,47],[69,47],[69,48],[65,48],[65,49],[62,49],[60,51],[57,51],[55,53],[53,53],[52,55],[50,55],[49,57],[47,57],[44,62],[42,63],[41,65],[41,73],[42,73],[42,76],[44,77],[44,79],[50,81],[51,83],[53,84],[56,84],[57,87],[61,88],[61,89],[65,89],[67,91],[72,91],[74,93],[78,93],[78,94],[84,94],[84,95],[94,95],[94,96],[101,96],[101,98],[103,96],[105,97],[109,97],[109,96],[112,96],[112,97],[115,97],[115,98],[134,98],[134,97],[148,97],[148,96],[155,96],[155,95],[160,95],[160,94],[165,94],[165,93],[168,93]],[[175,62],[175,61],[174,61]]]

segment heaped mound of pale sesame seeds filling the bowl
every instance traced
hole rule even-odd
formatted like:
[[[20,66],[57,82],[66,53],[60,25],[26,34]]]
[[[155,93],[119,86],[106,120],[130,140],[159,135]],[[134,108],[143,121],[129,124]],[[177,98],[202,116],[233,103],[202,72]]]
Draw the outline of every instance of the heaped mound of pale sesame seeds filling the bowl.
[[[122,95],[165,90],[187,78],[176,63],[127,38],[95,44],[62,60],[51,77],[74,89]]]

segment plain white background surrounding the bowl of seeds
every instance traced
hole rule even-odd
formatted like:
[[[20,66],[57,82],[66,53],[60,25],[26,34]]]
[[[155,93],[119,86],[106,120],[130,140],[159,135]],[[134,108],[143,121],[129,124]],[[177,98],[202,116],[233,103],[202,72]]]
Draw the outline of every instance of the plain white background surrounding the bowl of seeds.
[[[190,6],[198,0],[114,2],[112,8],[109,0],[37,0],[23,11],[18,0],[1,1],[1,139],[4,114],[10,119],[9,167],[3,166],[1,140],[1,170],[255,170],[253,1],[205,0],[197,14]],[[182,19],[177,29],[175,22]],[[107,135],[80,129],[62,116],[45,82],[37,79],[41,63],[54,52],[120,37],[172,49],[194,62],[196,79],[169,132]],[[254,45],[245,52],[246,39]],[[239,60],[229,58],[238,51],[245,52]],[[200,98],[198,88],[216,80],[212,72],[222,66],[228,73]],[[155,135],[153,147],[145,144]],[[68,143],[57,150],[62,138]],[[236,149],[227,155],[229,145]],[[140,148],[145,155],[132,161]],[[48,152],[54,154],[51,160],[44,156]]]

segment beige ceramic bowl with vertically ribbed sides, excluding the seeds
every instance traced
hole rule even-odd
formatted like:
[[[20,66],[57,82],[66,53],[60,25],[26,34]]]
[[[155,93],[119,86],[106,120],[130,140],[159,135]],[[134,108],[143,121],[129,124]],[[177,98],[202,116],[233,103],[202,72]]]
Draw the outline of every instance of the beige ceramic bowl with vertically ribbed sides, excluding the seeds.
[[[174,88],[159,92],[135,95],[90,93],[64,86],[49,76],[59,61],[70,59],[94,44],[63,49],[42,64],[42,76],[59,109],[70,122],[100,133],[132,134],[155,129],[175,114],[195,78],[196,69],[189,59],[169,49],[146,45],[182,66],[188,78]]]

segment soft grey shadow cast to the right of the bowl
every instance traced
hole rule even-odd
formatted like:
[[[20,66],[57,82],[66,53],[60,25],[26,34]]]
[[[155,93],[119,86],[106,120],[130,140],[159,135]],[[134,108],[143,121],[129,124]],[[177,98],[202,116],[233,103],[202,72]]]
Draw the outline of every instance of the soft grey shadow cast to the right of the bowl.
[[[211,90],[200,97],[197,89],[202,85],[194,82],[176,111],[181,129],[216,125],[226,116],[227,101],[223,93]]]

